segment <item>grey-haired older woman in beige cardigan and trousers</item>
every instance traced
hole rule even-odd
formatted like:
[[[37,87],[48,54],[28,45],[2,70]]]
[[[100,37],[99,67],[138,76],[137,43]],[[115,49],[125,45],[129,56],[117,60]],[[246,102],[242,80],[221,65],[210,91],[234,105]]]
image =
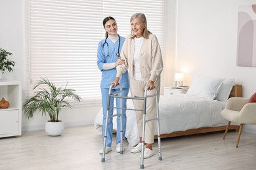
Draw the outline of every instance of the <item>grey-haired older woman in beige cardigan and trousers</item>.
[[[147,29],[146,16],[142,13],[136,13],[131,16],[131,35],[128,35],[123,43],[120,56],[125,59],[125,63],[117,65],[116,79],[112,82],[117,86],[119,78],[125,71],[129,71],[130,92],[132,96],[144,96],[146,86],[150,86],[148,95],[156,93],[158,89],[158,98],[160,92],[160,75],[163,70],[163,60],[161,48],[156,35],[153,35]],[[156,88],[155,88],[156,87]],[[143,108],[143,101],[133,100],[135,109]],[[142,145],[142,118],[141,111],[136,111],[137,126],[140,142],[133,147],[132,153],[141,152]],[[146,119],[156,117],[156,98],[148,97],[146,103]],[[152,144],[154,143],[155,121],[146,122],[144,158],[150,158],[154,155]]]

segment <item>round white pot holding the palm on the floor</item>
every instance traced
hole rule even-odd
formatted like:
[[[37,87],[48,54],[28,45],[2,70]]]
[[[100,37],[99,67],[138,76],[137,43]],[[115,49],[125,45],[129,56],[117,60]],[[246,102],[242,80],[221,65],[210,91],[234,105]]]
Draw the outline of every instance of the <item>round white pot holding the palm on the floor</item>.
[[[45,124],[45,132],[49,136],[59,136],[64,131],[65,125],[64,122],[59,120],[59,122],[50,122],[48,120]]]

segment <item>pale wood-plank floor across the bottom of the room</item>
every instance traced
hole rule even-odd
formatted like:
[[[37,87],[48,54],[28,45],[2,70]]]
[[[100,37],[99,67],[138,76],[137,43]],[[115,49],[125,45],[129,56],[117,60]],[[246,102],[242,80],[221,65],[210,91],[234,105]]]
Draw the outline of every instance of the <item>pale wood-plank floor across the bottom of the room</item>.
[[[242,133],[236,145],[236,131],[173,137],[161,140],[158,154],[144,160],[144,169],[256,169],[256,135]],[[113,141],[116,139],[114,135]],[[59,137],[45,131],[25,131],[21,137],[0,139],[0,169],[140,169],[139,154],[131,154],[125,141],[124,154],[114,150],[101,162],[100,131],[93,126],[66,127]],[[154,143],[157,153],[157,141]]]

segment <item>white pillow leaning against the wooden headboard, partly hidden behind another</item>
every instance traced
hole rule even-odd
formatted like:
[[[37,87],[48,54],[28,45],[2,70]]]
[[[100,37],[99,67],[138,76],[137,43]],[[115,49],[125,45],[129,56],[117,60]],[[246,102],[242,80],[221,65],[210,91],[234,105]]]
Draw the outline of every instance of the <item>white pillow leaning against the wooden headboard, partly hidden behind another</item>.
[[[226,78],[223,81],[223,85],[221,86],[221,89],[215,99],[219,101],[227,101],[234,84],[235,84],[235,79]]]

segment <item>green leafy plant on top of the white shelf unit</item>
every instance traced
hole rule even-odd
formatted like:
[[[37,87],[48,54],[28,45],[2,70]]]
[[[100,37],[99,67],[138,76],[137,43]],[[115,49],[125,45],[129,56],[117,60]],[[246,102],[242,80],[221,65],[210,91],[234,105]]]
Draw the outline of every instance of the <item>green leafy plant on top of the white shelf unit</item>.
[[[12,67],[14,67],[15,63],[14,61],[9,60],[8,56],[11,56],[11,52],[7,52],[7,50],[4,50],[3,48],[0,48],[0,75],[5,73],[5,71],[13,71]]]

